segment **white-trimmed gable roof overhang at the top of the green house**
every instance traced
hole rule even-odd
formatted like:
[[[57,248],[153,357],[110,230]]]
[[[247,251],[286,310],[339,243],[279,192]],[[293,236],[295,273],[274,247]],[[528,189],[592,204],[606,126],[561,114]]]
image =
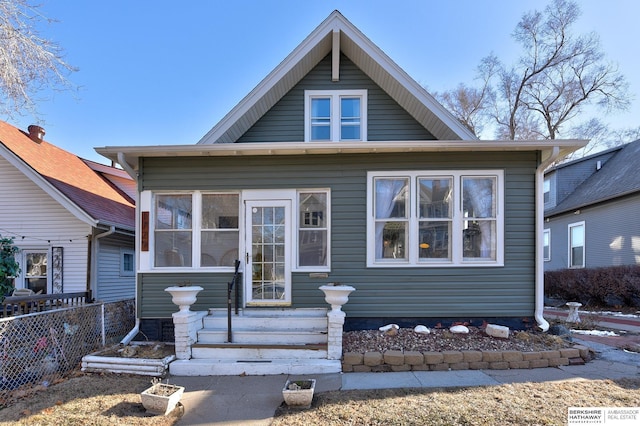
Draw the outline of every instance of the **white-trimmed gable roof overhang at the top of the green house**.
[[[437,139],[477,139],[336,10],[198,143],[235,142],[332,51],[334,33],[340,51]]]

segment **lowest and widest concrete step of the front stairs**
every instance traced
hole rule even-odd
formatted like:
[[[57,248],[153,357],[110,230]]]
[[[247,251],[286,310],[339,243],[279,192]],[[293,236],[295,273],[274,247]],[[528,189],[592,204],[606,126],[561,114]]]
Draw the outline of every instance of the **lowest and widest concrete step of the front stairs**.
[[[189,359],[169,364],[169,373],[174,376],[301,375],[340,373],[341,371],[340,360],[331,359],[274,359],[265,361]]]

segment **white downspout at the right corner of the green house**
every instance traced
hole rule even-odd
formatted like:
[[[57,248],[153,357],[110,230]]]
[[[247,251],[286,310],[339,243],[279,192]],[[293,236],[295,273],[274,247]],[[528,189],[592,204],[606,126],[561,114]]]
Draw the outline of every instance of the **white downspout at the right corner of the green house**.
[[[544,171],[560,156],[560,148],[554,146],[551,155],[543,160],[536,169],[536,291],[535,319],[538,327],[544,332],[549,330],[549,323],[544,319]]]

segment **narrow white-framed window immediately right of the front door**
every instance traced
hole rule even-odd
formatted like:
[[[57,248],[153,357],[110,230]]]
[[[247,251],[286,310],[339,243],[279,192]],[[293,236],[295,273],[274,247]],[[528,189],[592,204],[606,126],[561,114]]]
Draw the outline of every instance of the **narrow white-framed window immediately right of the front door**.
[[[328,191],[298,193],[298,268],[327,267]]]

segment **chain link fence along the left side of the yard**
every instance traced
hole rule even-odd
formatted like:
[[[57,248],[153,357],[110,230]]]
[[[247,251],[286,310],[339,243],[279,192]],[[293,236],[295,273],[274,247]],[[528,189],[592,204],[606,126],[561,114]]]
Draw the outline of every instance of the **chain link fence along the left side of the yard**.
[[[133,300],[0,318],[0,407],[18,388],[60,380],[134,323]]]

